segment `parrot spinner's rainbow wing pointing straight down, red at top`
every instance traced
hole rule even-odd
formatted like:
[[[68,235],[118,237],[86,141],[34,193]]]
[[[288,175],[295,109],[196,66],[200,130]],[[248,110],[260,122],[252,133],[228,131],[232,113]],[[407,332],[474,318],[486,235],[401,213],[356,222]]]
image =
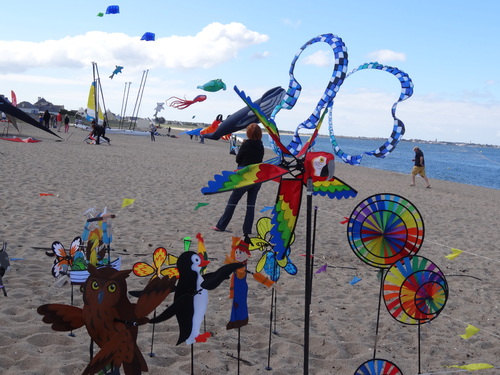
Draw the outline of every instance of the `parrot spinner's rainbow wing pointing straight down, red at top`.
[[[274,244],[276,258],[281,261],[293,238],[295,225],[302,200],[302,181],[284,179],[280,181],[276,204],[271,217],[271,241]]]

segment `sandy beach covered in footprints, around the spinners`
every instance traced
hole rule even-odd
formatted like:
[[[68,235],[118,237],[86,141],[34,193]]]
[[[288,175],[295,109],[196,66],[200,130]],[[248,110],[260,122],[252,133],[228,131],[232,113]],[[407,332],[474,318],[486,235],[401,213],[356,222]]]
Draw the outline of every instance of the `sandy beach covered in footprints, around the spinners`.
[[[185,236],[193,238],[196,251],[195,236],[201,233],[211,260],[208,271],[215,270],[230,251],[231,236],[242,234],[245,210],[242,201],[228,227],[231,232],[214,232],[210,227],[222,214],[228,193],[203,196],[200,189],[215,174],[234,169],[234,156],[226,141],[200,144],[186,135],[158,136],[151,142],[148,136],[108,134],[111,146],[95,146],[83,142],[86,131],[73,127],[69,134],[57,133],[64,137],[62,142],[28,126],[23,130],[43,141],[0,141],[0,241],[7,241],[10,258],[17,258],[3,277],[8,297],[0,293],[0,373],[80,374],[89,360],[86,330],[78,329],[75,337],[52,331],[36,312],[45,303],[71,301],[71,286],[57,287],[51,275],[54,258],[45,252],[52,242],[69,247],[82,233],[83,213],[90,207],[107,207],[116,214],[111,254],[121,257],[122,269],[138,261],[151,263],[157,247],[179,255]],[[266,156],[273,154],[269,151]],[[500,191],[440,181],[439,176],[429,176],[432,189],[426,189],[421,178],[411,187],[409,174],[336,165],[336,176],[354,187],[358,196],[340,201],[313,198],[318,207],[314,269],[328,267],[313,278],[309,372],[354,374],[374,357],[376,338],[377,358],[394,362],[404,374],[419,372],[418,327],[397,322],[383,302],[376,336],[378,270],[354,254],[347,225],[341,224],[358,203],[377,193],[401,195],[418,208],[425,223],[418,255],[434,262],[449,286],[443,312],[420,327],[420,372],[441,373],[454,370],[446,366],[472,363],[500,366]],[[263,185],[256,219],[269,214],[260,210],[274,204],[277,187],[275,182]],[[135,202],[121,208],[124,198]],[[198,203],[208,205],[195,210]],[[271,335],[271,291],[248,279],[250,320],[241,328],[241,374],[303,373],[305,226],[304,193],[292,247],[299,272],[296,276],[282,273],[272,324],[276,332]],[[463,253],[452,260],[445,258],[452,248]],[[259,254],[252,255],[250,270],[258,258]],[[351,285],[355,276],[361,281]],[[132,274],[129,290],[142,289],[146,282]],[[224,282],[210,292],[206,329],[213,337],[194,345],[194,374],[237,373],[238,332],[225,328],[231,308],[228,291],[229,282]],[[74,304],[82,306],[77,287],[74,296]],[[158,312],[172,299],[169,295]],[[468,324],[480,331],[465,340],[460,335]],[[175,345],[175,319],[154,329],[154,357],[148,355],[153,326],[141,326],[137,340],[149,373],[189,374],[191,348]],[[268,365],[272,370],[266,370]]]

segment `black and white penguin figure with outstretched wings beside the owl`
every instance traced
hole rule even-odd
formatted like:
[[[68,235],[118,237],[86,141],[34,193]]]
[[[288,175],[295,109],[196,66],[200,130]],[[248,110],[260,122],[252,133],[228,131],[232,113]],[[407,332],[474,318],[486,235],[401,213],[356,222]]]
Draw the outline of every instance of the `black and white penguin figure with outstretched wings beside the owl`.
[[[207,310],[208,291],[217,288],[224,280],[229,279],[235,270],[244,267],[242,263],[226,264],[215,272],[201,275],[202,267],[209,263],[193,251],[182,253],[177,260],[179,281],[175,288],[174,303],[149,321],[159,323],[175,315],[179,324],[179,339],[176,345],[183,342],[191,345],[196,341]]]

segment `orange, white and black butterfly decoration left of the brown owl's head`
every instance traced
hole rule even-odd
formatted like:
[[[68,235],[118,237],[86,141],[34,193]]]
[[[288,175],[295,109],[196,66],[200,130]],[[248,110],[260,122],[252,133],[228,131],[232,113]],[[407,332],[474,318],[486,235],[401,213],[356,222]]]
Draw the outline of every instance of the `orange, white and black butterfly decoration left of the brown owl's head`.
[[[61,242],[54,241],[52,243],[52,252],[56,259],[52,265],[52,276],[57,278],[61,275],[67,275],[70,270],[86,269],[86,259],[81,250],[82,246],[83,242],[81,237],[75,237],[73,239],[69,251],[66,251]]]

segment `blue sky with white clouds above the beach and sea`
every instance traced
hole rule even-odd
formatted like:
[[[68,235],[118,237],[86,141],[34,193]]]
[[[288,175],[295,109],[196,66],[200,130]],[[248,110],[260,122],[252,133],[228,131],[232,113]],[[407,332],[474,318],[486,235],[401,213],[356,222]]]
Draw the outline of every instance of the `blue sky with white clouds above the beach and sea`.
[[[109,5],[120,13],[98,17]],[[158,116],[211,123],[245,106],[234,86],[254,100],[286,89],[302,45],[334,34],[347,47],[349,72],[376,61],[410,76],[414,94],[396,112],[404,139],[500,145],[497,0],[24,0],[4,2],[1,14],[0,94],[10,98],[13,90],[18,102],[43,97],[86,108],[95,62],[113,113],[132,115],[137,103],[139,116],[152,118],[157,103],[173,96],[206,95],[183,110],[165,104]],[[141,41],[145,32],[156,40]],[[116,65],[122,73],[110,79]],[[294,71],[302,92],[294,108],[276,115],[280,130],[293,131],[309,117],[333,67],[326,43],[302,53]],[[197,88],[213,79],[227,89]],[[385,72],[349,76],[333,106],[335,135],[389,137],[400,91]],[[328,134],[327,125],[320,134]]]

